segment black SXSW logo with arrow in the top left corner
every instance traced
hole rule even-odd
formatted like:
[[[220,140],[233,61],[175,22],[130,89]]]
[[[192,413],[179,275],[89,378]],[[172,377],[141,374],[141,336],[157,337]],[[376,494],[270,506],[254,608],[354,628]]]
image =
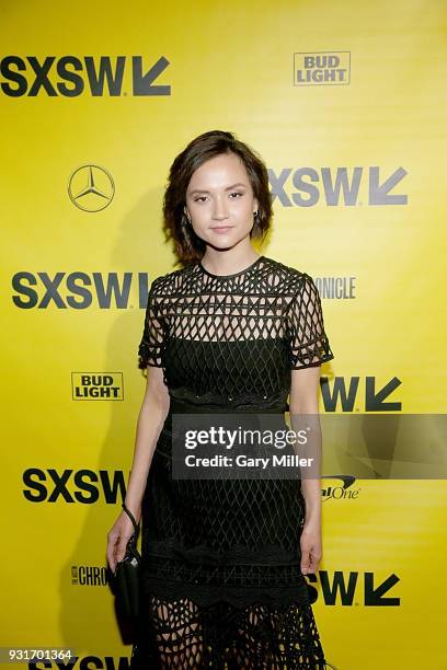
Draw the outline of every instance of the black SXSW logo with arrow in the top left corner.
[[[169,65],[164,56],[146,67],[141,56],[4,56],[0,85],[10,97],[171,95],[169,84],[157,83]]]

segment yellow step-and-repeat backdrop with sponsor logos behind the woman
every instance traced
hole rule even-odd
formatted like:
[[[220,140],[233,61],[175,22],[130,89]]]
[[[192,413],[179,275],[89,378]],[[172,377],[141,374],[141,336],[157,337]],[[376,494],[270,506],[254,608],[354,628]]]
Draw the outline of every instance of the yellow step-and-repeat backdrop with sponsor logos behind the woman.
[[[1,647],[76,651],[38,668],[128,665],[106,533],[145,391],[148,288],[176,269],[163,188],[197,135],[231,130],[267,164],[257,251],[320,290],[335,355],[322,414],[390,414],[397,434],[445,413],[446,10],[2,3]],[[447,667],[445,457],[428,419],[412,475],[392,476],[389,430],[376,476],[325,472],[309,581],[339,670]]]

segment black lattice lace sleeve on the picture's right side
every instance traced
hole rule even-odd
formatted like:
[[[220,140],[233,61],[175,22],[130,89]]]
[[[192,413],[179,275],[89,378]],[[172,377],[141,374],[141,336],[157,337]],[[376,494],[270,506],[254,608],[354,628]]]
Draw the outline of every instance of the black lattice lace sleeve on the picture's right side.
[[[319,366],[334,358],[324,332],[320,293],[313,279],[306,273],[288,307],[288,326],[293,370]]]

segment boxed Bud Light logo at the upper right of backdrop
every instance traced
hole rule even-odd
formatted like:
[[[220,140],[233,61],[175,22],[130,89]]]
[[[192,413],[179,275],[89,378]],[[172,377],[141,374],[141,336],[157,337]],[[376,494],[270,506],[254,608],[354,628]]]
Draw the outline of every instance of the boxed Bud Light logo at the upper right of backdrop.
[[[294,54],[294,85],[346,85],[351,82],[349,51]]]

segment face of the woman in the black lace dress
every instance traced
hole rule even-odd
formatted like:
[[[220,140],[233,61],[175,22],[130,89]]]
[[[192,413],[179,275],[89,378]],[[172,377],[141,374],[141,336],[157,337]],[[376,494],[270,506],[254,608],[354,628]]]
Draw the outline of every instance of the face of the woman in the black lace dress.
[[[191,177],[185,212],[207,244],[224,250],[249,239],[256,210],[245,166],[236,153],[209,159]]]

